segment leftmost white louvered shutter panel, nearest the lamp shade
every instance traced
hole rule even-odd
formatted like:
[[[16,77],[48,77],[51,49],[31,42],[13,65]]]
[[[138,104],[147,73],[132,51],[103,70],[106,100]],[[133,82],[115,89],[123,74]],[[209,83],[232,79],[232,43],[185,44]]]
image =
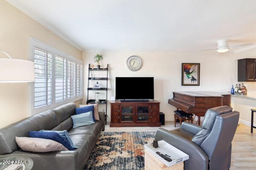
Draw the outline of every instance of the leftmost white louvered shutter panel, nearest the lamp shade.
[[[52,104],[52,54],[36,47],[34,50],[34,108],[40,108]]]

